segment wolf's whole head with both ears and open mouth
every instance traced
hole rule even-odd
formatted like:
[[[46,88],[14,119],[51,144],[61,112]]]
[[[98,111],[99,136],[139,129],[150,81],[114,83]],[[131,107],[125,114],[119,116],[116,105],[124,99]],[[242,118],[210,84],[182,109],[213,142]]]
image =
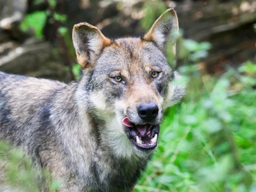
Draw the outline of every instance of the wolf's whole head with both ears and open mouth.
[[[110,40],[88,23],[74,26],[77,60],[84,68],[77,100],[108,122],[103,132],[112,147],[122,150],[126,143],[143,153],[156,148],[164,108],[184,94],[183,86],[173,84],[179,75],[164,54],[168,38],[175,54],[173,34],[178,29],[173,9],[165,11],[141,38]]]

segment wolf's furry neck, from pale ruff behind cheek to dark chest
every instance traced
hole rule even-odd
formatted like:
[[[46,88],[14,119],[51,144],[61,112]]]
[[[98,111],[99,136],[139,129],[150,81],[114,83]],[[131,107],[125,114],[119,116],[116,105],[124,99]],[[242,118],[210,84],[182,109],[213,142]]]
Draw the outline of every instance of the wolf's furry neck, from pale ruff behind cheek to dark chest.
[[[74,172],[80,173],[81,179],[94,184],[96,181],[103,191],[109,188],[131,190],[149,155],[132,148],[116,117],[102,119],[92,113],[88,93],[82,89],[79,84],[72,88],[73,98],[67,98],[73,108],[72,113],[69,112],[72,118],[63,121],[65,128],[60,132],[63,147],[71,156],[68,164]]]

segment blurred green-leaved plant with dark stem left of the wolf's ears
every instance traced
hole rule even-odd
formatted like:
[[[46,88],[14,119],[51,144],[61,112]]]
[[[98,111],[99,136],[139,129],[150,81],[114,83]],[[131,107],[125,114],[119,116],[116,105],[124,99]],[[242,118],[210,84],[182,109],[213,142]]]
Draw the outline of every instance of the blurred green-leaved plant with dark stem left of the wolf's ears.
[[[43,29],[48,22],[51,24],[53,33],[56,34],[59,47],[54,49],[53,53],[63,54],[71,80],[78,80],[80,73],[78,73],[78,67],[74,64],[76,60],[76,53],[68,34],[68,29],[61,26],[67,20],[67,15],[56,12],[58,5],[57,0],[34,0],[33,4],[44,3],[47,6],[45,11],[36,11],[27,14],[20,28],[23,31],[34,30],[35,36],[43,38]],[[76,74],[74,74],[74,72]]]

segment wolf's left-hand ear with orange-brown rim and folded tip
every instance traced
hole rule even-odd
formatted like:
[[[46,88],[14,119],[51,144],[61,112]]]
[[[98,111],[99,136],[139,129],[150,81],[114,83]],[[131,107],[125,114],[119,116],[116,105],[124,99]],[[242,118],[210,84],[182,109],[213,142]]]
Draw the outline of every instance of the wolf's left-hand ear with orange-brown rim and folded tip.
[[[101,31],[89,23],[79,23],[73,28],[73,44],[78,63],[82,68],[94,64],[100,50],[111,43]]]

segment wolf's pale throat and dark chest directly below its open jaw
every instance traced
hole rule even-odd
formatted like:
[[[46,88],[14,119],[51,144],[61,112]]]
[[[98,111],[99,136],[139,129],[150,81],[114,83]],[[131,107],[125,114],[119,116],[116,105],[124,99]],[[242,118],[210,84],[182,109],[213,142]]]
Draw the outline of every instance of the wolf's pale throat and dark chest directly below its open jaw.
[[[97,183],[103,191],[131,191],[150,155],[133,149],[115,117],[96,122],[98,143],[92,158],[92,169],[97,175]]]

